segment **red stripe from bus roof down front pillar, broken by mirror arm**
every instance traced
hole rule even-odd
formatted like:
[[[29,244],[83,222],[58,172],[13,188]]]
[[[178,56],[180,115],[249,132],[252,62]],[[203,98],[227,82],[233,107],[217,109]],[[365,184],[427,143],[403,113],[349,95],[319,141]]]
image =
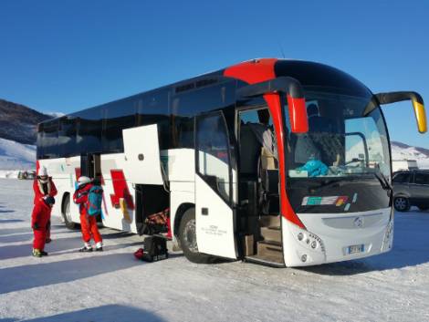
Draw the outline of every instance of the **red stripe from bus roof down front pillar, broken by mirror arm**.
[[[237,64],[224,71],[225,77],[237,78],[245,81],[248,84],[255,84],[269,79],[276,78],[274,66],[276,65],[276,58],[265,58],[247,61]],[[278,151],[278,164],[280,171],[280,200],[281,200],[281,213],[291,223],[295,223],[299,227],[305,229],[304,224],[298,218],[297,213],[294,212],[288,195],[286,193],[286,162],[283,138],[283,121],[282,121],[282,104],[278,94],[266,94],[264,99],[267,101],[268,109],[273,117],[274,129],[277,133],[277,151]]]

